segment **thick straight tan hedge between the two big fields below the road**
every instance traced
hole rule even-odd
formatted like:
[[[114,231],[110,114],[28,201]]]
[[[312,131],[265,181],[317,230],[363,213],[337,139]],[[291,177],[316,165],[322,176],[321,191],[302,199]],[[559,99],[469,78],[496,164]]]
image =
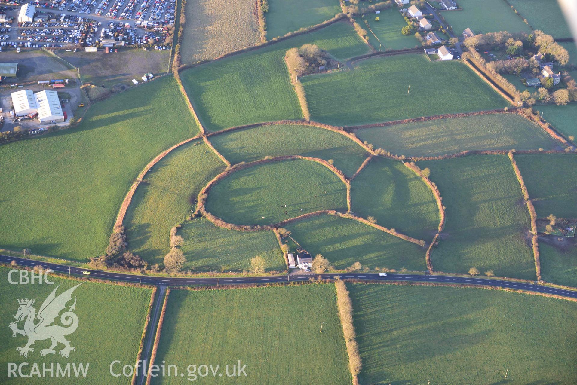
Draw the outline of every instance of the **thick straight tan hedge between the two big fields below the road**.
[[[357,385],[358,373],[361,372],[362,360],[359,346],[355,337],[357,332],[353,324],[353,301],[349,295],[346,284],[341,280],[335,280],[336,307],[339,310],[339,318],[343,327],[344,344],[349,356],[349,370],[353,379],[353,385]]]

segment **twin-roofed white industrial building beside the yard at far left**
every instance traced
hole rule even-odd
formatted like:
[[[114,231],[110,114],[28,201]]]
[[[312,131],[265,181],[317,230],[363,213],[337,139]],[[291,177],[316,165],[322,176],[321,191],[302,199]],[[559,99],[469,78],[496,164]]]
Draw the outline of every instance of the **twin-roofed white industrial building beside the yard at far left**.
[[[32,93],[32,90],[23,89],[13,92],[10,96],[16,116],[38,112],[40,123],[64,122],[64,112],[56,91],[44,90]]]

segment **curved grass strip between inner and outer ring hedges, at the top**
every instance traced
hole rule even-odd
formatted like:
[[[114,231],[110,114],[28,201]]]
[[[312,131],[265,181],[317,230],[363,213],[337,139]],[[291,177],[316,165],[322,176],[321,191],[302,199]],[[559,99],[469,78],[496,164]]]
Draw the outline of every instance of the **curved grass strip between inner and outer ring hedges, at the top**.
[[[210,138],[231,163],[252,162],[265,156],[304,155],[332,159],[335,167],[352,176],[368,153],[351,139],[312,126],[260,126]]]

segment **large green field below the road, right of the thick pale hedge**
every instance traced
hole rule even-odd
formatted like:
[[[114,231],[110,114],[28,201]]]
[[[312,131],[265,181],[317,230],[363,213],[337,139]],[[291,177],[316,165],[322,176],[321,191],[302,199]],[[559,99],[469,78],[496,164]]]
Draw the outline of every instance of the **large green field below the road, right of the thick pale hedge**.
[[[347,286],[361,384],[575,383],[574,302],[477,288]]]

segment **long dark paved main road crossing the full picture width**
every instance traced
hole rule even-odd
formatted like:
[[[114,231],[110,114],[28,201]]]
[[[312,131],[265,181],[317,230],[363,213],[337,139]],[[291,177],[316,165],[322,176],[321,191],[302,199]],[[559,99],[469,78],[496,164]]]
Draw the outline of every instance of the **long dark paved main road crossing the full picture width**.
[[[90,271],[90,277],[104,278],[106,280],[128,281],[134,283],[153,284],[153,285],[224,285],[224,284],[256,284],[271,282],[297,282],[307,281],[310,277],[334,278],[339,275],[341,278],[355,278],[358,280],[377,280],[377,281],[414,281],[414,282],[436,282],[441,284],[469,284],[481,286],[497,286],[500,288],[511,288],[527,290],[530,292],[547,293],[569,298],[577,298],[577,291],[558,289],[550,286],[535,284],[526,284],[523,282],[492,280],[481,277],[452,277],[451,275],[416,275],[416,274],[388,274],[387,277],[380,277],[374,273],[340,273],[340,274],[297,274],[297,275],[269,275],[268,277],[220,277],[220,278],[186,278],[186,277],[155,277],[151,275],[132,275],[114,273],[111,271],[78,269],[78,267],[69,267],[57,265],[55,263],[46,263],[33,261],[32,259],[18,258],[14,256],[0,255],[0,262],[16,261],[21,266],[41,265],[45,269],[53,269],[61,273],[82,274],[83,271]]]

